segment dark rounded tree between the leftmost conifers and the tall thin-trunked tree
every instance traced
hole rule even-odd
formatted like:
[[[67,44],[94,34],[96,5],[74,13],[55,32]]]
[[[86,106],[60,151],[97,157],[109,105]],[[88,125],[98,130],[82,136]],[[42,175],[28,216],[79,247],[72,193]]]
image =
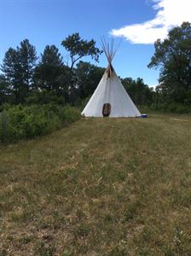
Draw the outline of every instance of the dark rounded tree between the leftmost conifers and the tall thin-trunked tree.
[[[55,45],[47,45],[41,55],[38,67],[35,68],[33,81],[36,90],[42,91],[43,98],[52,99],[59,97],[59,102],[68,102],[68,88],[70,84],[70,70],[62,61],[59,49]],[[30,101],[35,98],[37,102],[41,100],[41,92],[36,91],[32,94]],[[62,98],[62,100],[61,100]]]

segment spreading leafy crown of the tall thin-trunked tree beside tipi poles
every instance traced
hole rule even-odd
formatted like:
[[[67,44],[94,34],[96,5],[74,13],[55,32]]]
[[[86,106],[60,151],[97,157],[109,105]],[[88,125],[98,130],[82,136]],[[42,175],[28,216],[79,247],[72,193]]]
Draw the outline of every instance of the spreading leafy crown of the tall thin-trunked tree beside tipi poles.
[[[89,42],[80,38],[79,33],[73,33],[61,42],[61,45],[70,53],[72,69],[74,64],[84,56],[90,55],[95,61],[99,60],[101,50],[96,48],[96,42],[92,39]]]

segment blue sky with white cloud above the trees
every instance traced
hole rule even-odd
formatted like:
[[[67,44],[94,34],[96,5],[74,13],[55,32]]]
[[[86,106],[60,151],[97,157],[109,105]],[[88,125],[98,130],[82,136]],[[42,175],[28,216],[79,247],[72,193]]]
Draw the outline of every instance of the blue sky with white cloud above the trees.
[[[98,47],[101,47],[101,36],[110,38],[113,35],[116,42],[122,38],[113,60],[118,75],[133,79],[141,77],[149,86],[157,85],[159,71],[147,67],[154,52],[153,42],[157,38],[165,38],[171,26],[178,26],[184,20],[190,21],[190,2],[0,0],[0,63],[6,50],[9,47],[15,48],[25,38],[35,45],[38,55],[47,44],[55,44],[67,62],[68,55],[61,46],[61,41],[69,34],[79,32],[84,39],[93,38]],[[86,58],[84,61],[90,59]],[[91,63],[95,64],[94,61]],[[101,55],[100,63],[96,65],[107,66],[104,55]]]

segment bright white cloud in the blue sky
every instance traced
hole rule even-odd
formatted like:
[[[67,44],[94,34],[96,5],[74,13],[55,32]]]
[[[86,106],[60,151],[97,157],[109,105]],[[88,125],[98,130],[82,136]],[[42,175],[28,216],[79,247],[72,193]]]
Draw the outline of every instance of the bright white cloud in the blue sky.
[[[153,44],[158,38],[165,39],[173,26],[183,21],[191,22],[191,0],[151,0],[157,15],[141,24],[113,29],[115,37],[124,37],[132,44]]]

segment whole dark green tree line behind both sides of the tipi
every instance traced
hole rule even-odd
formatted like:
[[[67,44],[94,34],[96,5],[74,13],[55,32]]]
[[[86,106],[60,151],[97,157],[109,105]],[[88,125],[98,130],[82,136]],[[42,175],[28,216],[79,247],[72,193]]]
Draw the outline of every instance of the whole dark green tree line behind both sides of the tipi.
[[[56,104],[80,106],[87,102],[105,68],[83,61],[90,56],[96,62],[102,53],[95,40],[84,40],[78,32],[61,41],[69,61],[55,45],[47,45],[38,56],[28,39],[16,49],[9,48],[0,74],[0,104]],[[121,79],[136,105],[173,110],[191,108],[191,24],[171,29],[164,41],[154,43],[149,68],[159,68],[159,85],[149,88],[143,79]],[[181,106],[181,107],[180,107]],[[175,109],[176,110],[176,109]]]

